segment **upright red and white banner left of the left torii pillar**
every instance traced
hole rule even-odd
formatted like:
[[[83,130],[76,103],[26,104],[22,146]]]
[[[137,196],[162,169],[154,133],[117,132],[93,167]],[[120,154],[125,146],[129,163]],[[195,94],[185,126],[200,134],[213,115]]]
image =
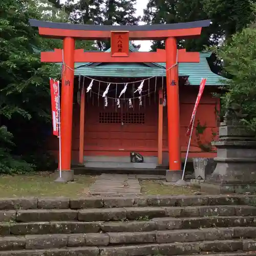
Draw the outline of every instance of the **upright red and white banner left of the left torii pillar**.
[[[59,136],[59,81],[50,78],[53,135]]]

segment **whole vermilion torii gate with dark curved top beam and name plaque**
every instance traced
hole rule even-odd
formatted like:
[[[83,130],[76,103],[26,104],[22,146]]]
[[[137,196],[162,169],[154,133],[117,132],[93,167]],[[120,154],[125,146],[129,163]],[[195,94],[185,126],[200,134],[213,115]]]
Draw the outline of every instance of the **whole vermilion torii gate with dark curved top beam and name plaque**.
[[[63,50],[41,52],[41,62],[63,62],[61,82],[61,164],[66,180],[72,180],[71,143],[75,62],[166,62],[169,170],[167,181],[181,178],[180,111],[177,62],[199,62],[197,52],[177,50],[177,39],[201,35],[210,20],[143,26],[99,26],[44,22],[30,19],[39,34],[63,40]],[[111,52],[84,52],[75,49],[75,39],[106,40],[111,38]],[[129,52],[129,40],[165,40],[165,50]]]

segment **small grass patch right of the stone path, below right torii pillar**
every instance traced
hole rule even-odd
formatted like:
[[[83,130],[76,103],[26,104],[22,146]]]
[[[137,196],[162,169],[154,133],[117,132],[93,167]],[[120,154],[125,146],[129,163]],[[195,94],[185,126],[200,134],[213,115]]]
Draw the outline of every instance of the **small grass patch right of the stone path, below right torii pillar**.
[[[175,185],[164,185],[161,181],[142,181],[141,193],[144,195],[195,195],[199,190],[191,187],[181,187]]]

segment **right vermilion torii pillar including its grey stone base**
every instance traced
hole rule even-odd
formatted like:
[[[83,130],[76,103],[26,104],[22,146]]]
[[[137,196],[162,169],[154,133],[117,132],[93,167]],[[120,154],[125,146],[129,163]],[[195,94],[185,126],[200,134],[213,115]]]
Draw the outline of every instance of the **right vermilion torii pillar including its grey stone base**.
[[[166,52],[166,91],[167,91],[167,122],[169,170],[166,171],[166,181],[176,182],[182,178],[180,152],[180,102],[179,75],[177,57],[177,40],[169,37],[165,40]]]

